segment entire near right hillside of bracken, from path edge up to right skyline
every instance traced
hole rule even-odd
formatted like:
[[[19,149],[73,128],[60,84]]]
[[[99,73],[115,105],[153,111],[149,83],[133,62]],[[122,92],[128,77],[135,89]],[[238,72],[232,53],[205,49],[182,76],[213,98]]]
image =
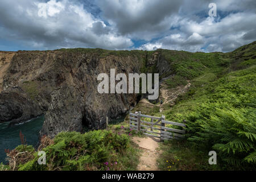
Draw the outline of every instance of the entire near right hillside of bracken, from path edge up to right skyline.
[[[222,68],[210,69],[211,72],[194,78],[191,88],[177,98],[176,105],[164,106],[163,114],[168,120],[185,119],[188,129],[187,142],[162,144],[162,169],[169,169],[165,160],[179,158],[181,164],[176,163],[172,169],[255,170],[255,52],[255,43],[251,43],[227,53],[228,56],[221,55],[218,66]],[[217,152],[215,168],[208,165],[211,150]]]

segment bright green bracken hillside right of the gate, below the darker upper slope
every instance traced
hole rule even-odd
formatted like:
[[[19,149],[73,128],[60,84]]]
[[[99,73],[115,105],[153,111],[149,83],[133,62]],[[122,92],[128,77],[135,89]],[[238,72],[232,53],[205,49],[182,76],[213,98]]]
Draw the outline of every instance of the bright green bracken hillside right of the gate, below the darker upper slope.
[[[191,90],[179,97],[174,107],[165,106],[163,114],[169,121],[187,121],[188,142],[178,145],[179,150],[175,152],[170,150],[171,154],[164,154],[163,158],[174,153],[180,156],[177,158],[185,155],[195,159],[193,155],[199,155],[204,157],[196,163],[207,165],[208,152],[214,150],[218,154],[219,169],[255,169],[255,65],[230,72],[208,84],[206,79],[195,80]],[[167,146],[173,147],[172,144]],[[187,145],[191,150],[186,150]]]

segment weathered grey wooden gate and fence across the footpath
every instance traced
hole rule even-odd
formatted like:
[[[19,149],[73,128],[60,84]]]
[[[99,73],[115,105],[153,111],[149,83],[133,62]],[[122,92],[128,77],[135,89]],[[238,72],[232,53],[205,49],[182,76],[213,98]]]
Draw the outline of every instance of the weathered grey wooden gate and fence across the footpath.
[[[166,125],[179,126],[180,129],[166,127]],[[141,114],[141,111],[130,113],[130,129],[142,131],[143,134],[160,138],[161,141],[176,139],[180,140],[184,137],[185,127],[183,123],[166,121],[164,115],[162,117],[154,117]]]

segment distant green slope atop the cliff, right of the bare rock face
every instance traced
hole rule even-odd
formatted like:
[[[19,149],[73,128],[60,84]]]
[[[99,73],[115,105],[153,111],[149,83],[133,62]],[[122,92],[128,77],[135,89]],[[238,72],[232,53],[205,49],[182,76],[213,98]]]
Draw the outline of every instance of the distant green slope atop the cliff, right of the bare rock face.
[[[203,52],[185,52],[185,51],[169,51],[160,49],[164,59],[170,64],[170,72],[162,75],[162,78],[175,75],[177,82],[180,77],[185,80],[192,80],[193,78],[203,75],[205,72],[218,73],[226,67],[227,61],[223,58],[223,53],[203,53]],[[175,85],[174,85],[175,86]]]

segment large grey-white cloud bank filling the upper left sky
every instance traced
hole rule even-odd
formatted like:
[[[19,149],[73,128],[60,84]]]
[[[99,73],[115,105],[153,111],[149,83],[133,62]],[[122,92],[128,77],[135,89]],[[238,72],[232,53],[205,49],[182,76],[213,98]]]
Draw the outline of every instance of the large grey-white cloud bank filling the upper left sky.
[[[129,38],[118,35],[112,27],[88,13],[81,3],[68,0],[1,1],[0,16],[2,38],[34,48],[133,46]]]

